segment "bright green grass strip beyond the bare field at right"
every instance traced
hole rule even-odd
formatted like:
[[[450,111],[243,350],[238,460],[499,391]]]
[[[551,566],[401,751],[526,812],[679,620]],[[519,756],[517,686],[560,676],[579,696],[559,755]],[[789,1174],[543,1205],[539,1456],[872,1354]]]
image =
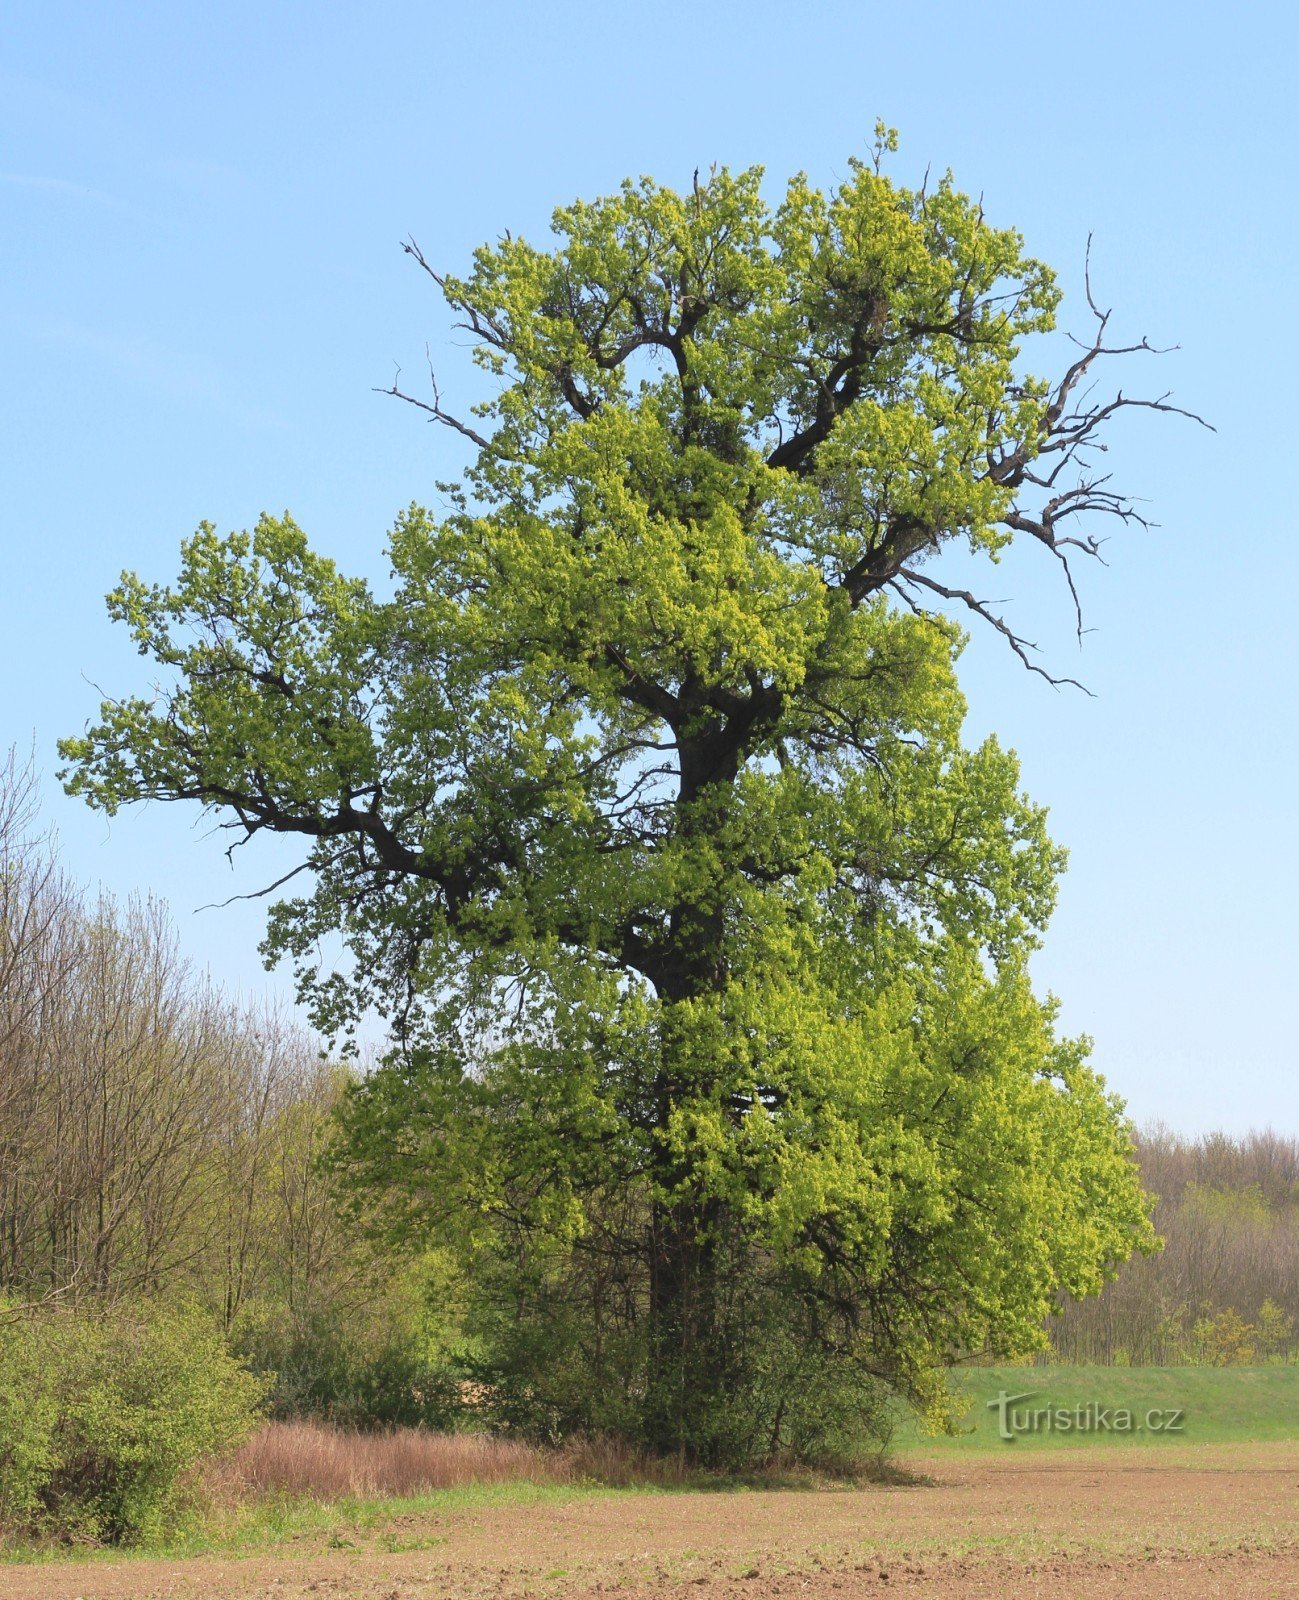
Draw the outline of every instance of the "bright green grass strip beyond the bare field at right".
[[[1158,1445],[1249,1445],[1299,1440],[1299,1366],[973,1366],[952,1374],[968,1411],[955,1437],[923,1434],[907,1416],[893,1438],[902,1456],[923,1451],[1037,1451]],[[1089,1426],[1064,1432],[1043,1426],[1016,1430],[1013,1443],[998,1437],[1000,1394],[1022,1395],[1014,1411],[1069,1411]],[[989,1402],[993,1402],[990,1405]],[[1126,1410],[1131,1432],[1096,1426],[1094,1408]],[[1088,1408],[1091,1414],[1088,1416]],[[1152,1413],[1161,1413],[1152,1418]],[[1181,1427],[1168,1429],[1169,1413],[1182,1411]],[[1149,1419],[1149,1421],[1147,1421]]]

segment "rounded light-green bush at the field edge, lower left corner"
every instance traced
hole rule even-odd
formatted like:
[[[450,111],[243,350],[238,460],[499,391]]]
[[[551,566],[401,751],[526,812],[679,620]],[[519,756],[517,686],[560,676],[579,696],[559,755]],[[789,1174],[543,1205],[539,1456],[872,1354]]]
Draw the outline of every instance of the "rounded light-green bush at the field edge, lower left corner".
[[[194,1469],[238,1446],[264,1384],[189,1310],[0,1318],[0,1522],[133,1544],[182,1509]]]

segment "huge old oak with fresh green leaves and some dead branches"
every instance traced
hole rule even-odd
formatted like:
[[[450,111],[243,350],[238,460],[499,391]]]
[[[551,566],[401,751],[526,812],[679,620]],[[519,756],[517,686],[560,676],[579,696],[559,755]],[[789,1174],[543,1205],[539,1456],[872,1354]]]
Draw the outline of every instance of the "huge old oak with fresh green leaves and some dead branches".
[[[1051,272],[891,147],[776,206],[758,170],[627,182],[464,278],[408,245],[491,382],[403,394],[472,459],[398,518],[390,598],[288,518],[205,525],[110,597],[152,694],[62,747],[109,811],[301,837],[267,952],[395,1046],[354,1176],[509,1298],[501,1386],[712,1459],[1030,1346],[1149,1235],[1029,986],[1062,858],[961,744],[952,603],[1045,669],[936,576],[1025,538],[1072,587],[1131,515],[1086,453],[1133,402],[1091,398],[1104,317],[1027,376]]]

